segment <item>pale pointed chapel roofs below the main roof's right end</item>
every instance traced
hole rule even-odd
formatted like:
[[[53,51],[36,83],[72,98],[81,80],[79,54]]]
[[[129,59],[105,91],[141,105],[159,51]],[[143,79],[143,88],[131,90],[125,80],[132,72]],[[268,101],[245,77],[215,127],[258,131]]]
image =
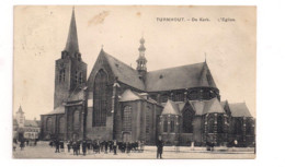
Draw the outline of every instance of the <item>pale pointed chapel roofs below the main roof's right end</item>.
[[[219,100],[215,97],[209,100],[190,100],[192,106],[194,107],[196,115],[205,115],[205,114],[224,114],[225,110],[219,103]]]

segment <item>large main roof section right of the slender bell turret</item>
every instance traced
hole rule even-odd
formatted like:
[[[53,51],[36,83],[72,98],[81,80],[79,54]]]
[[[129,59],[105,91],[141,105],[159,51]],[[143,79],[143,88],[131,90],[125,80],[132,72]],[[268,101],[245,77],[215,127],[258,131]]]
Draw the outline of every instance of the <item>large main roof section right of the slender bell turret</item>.
[[[146,91],[169,91],[189,87],[216,87],[206,62],[150,71]]]

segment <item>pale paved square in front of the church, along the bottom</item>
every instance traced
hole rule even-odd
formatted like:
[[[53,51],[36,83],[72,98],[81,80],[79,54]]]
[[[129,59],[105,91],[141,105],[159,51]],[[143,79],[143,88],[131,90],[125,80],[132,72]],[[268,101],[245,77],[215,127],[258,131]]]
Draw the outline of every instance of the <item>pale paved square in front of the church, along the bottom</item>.
[[[129,154],[127,153],[121,153],[118,152],[117,155],[114,155],[113,153],[109,154],[93,154],[93,152],[88,153],[86,156],[82,154],[76,156],[72,153],[72,150],[70,153],[67,152],[60,152],[55,153],[55,147],[48,146],[47,143],[39,143],[37,146],[26,146],[23,151],[20,150],[20,147],[16,147],[16,151],[13,152],[14,158],[87,158],[87,159],[101,159],[101,158],[107,158],[107,159],[128,159],[128,158],[146,158],[146,159],[153,159],[156,158],[156,147],[155,146],[146,146],[144,153],[136,153],[132,152]],[[164,159],[173,159],[173,158],[254,158],[255,154],[252,152],[248,153],[241,153],[241,152],[205,152],[205,151],[198,151],[198,152],[191,152],[187,147],[181,147],[180,152],[175,152],[174,147],[171,146],[164,146],[164,152],[162,154],[162,158]]]

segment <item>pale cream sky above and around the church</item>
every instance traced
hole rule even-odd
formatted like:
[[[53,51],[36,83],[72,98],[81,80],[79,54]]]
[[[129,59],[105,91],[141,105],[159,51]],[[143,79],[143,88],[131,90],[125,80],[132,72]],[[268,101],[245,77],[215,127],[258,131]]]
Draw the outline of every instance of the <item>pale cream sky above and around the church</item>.
[[[79,49],[88,75],[101,48],[136,68],[144,36],[148,71],[206,61],[221,100],[246,102],[255,116],[254,7],[77,5]],[[72,7],[14,7],[13,114],[26,119],[53,110],[55,61],[66,46]],[[159,22],[184,17],[184,22]],[[192,22],[195,17],[209,22]],[[223,22],[221,17],[235,20]]]

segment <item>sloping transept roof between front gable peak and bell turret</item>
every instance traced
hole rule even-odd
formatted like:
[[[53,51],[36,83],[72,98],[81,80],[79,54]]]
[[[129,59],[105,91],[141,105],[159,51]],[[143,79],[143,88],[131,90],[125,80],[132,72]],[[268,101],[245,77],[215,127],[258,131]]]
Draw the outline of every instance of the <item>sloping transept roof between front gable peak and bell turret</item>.
[[[106,53],[103,49],[101,50],[100,53],[105,56],[114,75],[117,76],[117,80],[119,82],[125,83],[138,90],[145,90],[145,84],[142,80],[139,79],[139,74],[137,70],[117,60],[113,56]]]

